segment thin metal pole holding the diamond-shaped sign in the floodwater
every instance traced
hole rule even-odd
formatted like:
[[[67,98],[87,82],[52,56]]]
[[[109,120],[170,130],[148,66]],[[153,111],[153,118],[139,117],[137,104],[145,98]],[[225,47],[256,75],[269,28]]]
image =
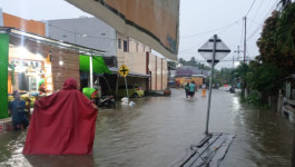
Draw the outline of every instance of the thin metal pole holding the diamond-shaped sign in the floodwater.
[[[213,56],[212,56],[212,72],[210,72],[210,82],[209,82],[209,97],[208,97],[207,119],[206,119],[206,130],[205,130],[205,134],[206,135],[209,135],[209,132],[208,132],[208,126],[209,126],[209,116],[210,116],[212,82],[213,82],[213,75],[214,75],[214,63],[215,63],[215,53],[216,53],[216,40],[217,40],[217,36],[214,35],[214,48],[213,48]]]

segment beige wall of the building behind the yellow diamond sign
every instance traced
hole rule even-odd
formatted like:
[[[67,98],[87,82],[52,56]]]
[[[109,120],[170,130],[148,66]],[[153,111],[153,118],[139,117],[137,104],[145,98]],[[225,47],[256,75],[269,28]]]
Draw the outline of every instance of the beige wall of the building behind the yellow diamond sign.
[[[121,40],[121,48],[118,48],[118,39]],[[124,51],[124,40],[128,41],[128,51]],[[164,90],[167,88],[168,84],[168,69],[167,69],[167,60],[161,59],[155,55],[153,55],[151,49],[148,46],[144,46],[142,43],[131,39],[124,37],[117,33],[117,61],[118,68],[124,63],[126,65],[131,72],[146,75],[146,52],[149,53],[149,62],[148,68],[151,71],[151,90]],[[128,77],[129,81],[132,85],[139,84],[144,90],[147,89],[146,79]],[[120,81],[121,82],[121,81]],[[119,82],[119,84],[120,84]],[[145,89],[146,88],[146,89]]]

